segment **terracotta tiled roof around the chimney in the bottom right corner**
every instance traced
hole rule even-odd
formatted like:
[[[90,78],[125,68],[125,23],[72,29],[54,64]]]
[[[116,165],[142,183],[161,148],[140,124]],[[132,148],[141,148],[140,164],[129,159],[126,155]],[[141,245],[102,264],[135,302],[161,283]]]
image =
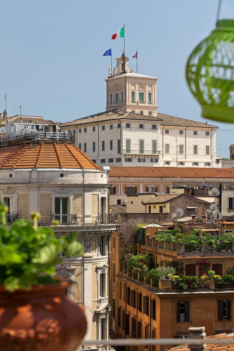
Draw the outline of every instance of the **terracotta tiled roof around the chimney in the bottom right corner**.
[[[224,341],[223,344],[215,344],[215,340],[214,340],[214,343],[206,344],[205,351],[229,351],[229,350],[233,351],[234,350],[234,345],[228,343],[228,340],[234,339],[234,333],[230,333],[230,334],[222,333],[222,334],[206,336],[206,339],[227,339],[227,343],[225,344],[225,341]],[[190,351],[190,349],[188,348],[188,344],[184,344],[184,345],[172,347],[172,349],[169,349],[169,351]]]

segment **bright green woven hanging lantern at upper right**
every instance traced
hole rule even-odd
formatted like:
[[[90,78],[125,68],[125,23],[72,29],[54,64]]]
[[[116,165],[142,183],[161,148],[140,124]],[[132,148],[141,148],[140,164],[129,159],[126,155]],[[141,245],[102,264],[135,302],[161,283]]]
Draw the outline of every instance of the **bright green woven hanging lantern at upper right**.
[[[234,123],[234,20],[216,29],[190,55],[188,86],[202,106],[202,117]]]

